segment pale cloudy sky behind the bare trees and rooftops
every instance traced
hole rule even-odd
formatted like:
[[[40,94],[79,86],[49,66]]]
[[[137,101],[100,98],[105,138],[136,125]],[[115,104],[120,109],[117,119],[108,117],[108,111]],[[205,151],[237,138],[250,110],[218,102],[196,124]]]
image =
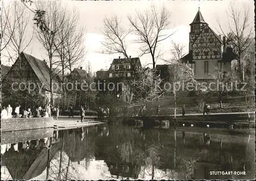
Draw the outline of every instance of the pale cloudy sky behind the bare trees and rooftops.
[[[6,2],[9,0],[5,0]],[[79,22],[86,27],[84,46],[86,48],[86,57],[84,58],[82,66],[85,67],[90,62],[92,71],[96,72],[101,69],[109,69],[110,63],[114,58],[118,58],[118,54],[106,55],[99,53],[102,50],[101,41],[104,40],[104,36],[101,31],[103,28],[104,17],[111,17],[116,14],[121,19],[121,25],[124,29],[129,29],[130,25],[127,21],[127,15],[134,15],[135,11],[143,12],[146,8],[149,8],[151,4],[156,6],[164,5],[170,12],[169,18],[170,27],[167,30],[168,33],[175,32],[174,35],[166,39],[160,48],[164,59],[170,58],[170,50],[172,50],[171,40],[184,44],[185,52],[188,52],[189,41],[189,24],[193,21],[200,6],[200,11],[204,20],[208,23],[209,27],[217,34],[221,34],[217,17],[220,19],[220,23],[224,31],[228,30],[227,23],[228,18],[226,12],[229,11],[230,2],[239,7],[243,4],[250,7],[250,20],[254,24],[254,1],[67,1],[62,0],[63,6],[72,9],[75,7],[79,14]],[[31,26],[33,25],[33,14],[30,13]],[[32,28],[28,30],[27,37],[32,34]],[[138,57],[141,53],[139,51],[140,44],[133,43],[135,35],[127,36],[127,52],[132,57]],[[46,53],[43,51],[40,43],[34,37],[30,46],[25,50],[26,53],[39,59],[47,59]],[[2,54],[7,55],[6,51]],[[8,65],[8,58],[1,57],[3,64]],[[140,57],[142,65],[152,63],[150,55],[143,55]],[[10,63],[10,65],[12,62]],[[156,64],[164,64],[163,61],[157,60]],[[151,65],[150,65],[151,66]]]

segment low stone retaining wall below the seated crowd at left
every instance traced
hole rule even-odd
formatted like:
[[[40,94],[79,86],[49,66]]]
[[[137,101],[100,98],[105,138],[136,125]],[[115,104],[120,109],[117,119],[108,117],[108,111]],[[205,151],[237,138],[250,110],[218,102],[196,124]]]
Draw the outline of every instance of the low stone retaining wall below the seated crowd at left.
[[[10,118],[1,120],[1,131],[19,131],[53,127],[53,118]]]

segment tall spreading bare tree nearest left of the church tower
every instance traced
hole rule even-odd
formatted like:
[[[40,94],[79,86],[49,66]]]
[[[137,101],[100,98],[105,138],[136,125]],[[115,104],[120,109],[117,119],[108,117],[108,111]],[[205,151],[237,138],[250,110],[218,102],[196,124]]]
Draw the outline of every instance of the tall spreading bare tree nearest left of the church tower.
[[[169,17],[170,13],[165,6],[162,6],[159,11],[154,5],[144,13],[136,12],[135,19],[128,16],[133,33],[138,36],[134,42],[142,44],[141,56],[151,55],[153,69],[155,69],[157,59],[162,55],[161,50],[157,50],[160,42],[173,35],[173,33],[166,34],[170,25]]]

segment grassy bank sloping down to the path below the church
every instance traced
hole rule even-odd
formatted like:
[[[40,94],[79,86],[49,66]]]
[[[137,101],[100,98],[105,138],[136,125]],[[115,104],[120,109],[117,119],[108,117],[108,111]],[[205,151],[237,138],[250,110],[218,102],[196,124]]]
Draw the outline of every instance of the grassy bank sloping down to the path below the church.
[[[210,104],[212,113],[225,113],[225,112],[249,112],[255,111],[254,97],[250,97],[251,104],[249,109],[245,102],[245,97],[227,97],[222,100],[222,108],[220,108],[220,103],[218,98],[209,97],[205,102]],[[162,99],[155,102],[144,102],[137,101],[134,103],[127,112],[127,115],[131,116],[134,112],[139,112],[140,106],[146,105],[145,115],[153,116],[156,115],[157,106],[160,106],[160,115],[170,115],[174,114],[174,98],[170,96],[165,96]],[[198,97],[187,97],[183,99],[182,102],[178,102],[176,114],[182,114],[182,106],[185,105],[186,114],[201,114],[203,112],[203,104],[200,103]],[[135,108],[134,108],[135,107]],[[135,111],[136,110],[136,111]]]

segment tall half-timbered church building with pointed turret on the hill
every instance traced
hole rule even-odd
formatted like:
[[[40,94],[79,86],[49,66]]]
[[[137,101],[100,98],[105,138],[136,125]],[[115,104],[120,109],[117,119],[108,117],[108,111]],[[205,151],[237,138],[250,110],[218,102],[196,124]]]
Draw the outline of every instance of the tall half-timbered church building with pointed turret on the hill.
[[[191,63],[196,79],[218,78],[217,69],[231,73],[231,61],[236,56],[227,53],[230,48],[226,48],[226,37],[222,40],[221,35],[209,27],[200,10],[189,26],[189,53],[181,61]]]

